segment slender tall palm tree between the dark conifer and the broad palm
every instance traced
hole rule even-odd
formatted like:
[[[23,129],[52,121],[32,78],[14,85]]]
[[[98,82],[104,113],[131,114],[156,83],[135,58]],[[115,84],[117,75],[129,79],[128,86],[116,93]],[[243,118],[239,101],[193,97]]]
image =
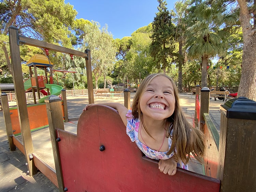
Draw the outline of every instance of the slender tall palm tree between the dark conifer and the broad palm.
[[[179,55],[178,55],[178,90],[182,92],[182,67],[184,65],[185,53],[183,51],[183,44],[186,40],[185,31],[187,27],[186,11],[188,9],[188,0],[179,0],[174,4],[174,10],[172,10],[173,23],[175,24],[175,39],[179,43]]]

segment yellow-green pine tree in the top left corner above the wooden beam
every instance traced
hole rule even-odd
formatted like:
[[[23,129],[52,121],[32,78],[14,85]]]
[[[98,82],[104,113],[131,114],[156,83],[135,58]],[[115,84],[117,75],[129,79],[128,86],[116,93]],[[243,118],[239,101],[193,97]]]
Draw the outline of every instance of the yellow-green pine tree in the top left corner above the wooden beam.
[[[19,28],[19,33],[31,38],[72,47],[70,38],[73,36],[69,30],[73,25],[77,12],[73,6],[64,3],[64,0],[1,0],[0,46],[5,55],[5,61],[12,74],[9,59],[8,45],[4,36],[9,26]],[[55,55],[53,55],[55,56]],[[53,61],[52,57],[51,60]]]

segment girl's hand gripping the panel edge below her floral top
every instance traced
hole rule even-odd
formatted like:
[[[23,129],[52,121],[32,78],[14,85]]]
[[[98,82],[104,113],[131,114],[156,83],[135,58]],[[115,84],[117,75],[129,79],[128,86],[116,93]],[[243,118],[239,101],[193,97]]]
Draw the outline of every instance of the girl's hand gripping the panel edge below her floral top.
[[[168,175],[175,175],[177,171],[177,162],[174,160],[173,157],[166,160],[159,160],[158,163],[159,171]]]

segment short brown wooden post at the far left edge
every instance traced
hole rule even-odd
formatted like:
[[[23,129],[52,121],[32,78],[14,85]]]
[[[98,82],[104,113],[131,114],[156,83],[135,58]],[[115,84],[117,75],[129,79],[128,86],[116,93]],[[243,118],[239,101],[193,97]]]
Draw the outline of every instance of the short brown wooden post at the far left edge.
[[[3,108],[3,118],[4,118],[4,124],[5,124],[5,130],[6,135],[9,143],[9,148],[11,151],[14,151],[16,149],[16,146],[13,143],[12,135],[12,122],[11,122],[11,116],[10,116],[10,109],[9,109],[9,103],[8,103],[8,95],[6,93],[1,94],[1,101],[2,101],[2,108]]]

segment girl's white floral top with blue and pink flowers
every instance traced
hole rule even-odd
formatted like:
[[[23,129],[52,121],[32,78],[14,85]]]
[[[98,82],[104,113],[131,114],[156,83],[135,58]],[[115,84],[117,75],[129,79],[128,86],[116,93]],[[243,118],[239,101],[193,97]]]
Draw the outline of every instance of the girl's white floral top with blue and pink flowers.
[[[144,145],[142,142],[140,142],[138,137],[140,120],[134,119],[132,117],[131,110],[128,110],[126,117],[127,117],[126,133],[130,137],[132,142],[135,141],[139,149],[145,154],[146,157],[155,159],[155,160],[159,160],[159,159],[166,160],[166,159],[170,159],[174,155],[174,151],[168,155],[167,154],[168,151],[166,152],[155,151],[149,148],[148,146]],[[172,132],[171,132],[171,135],[172,135]],[[168,141],[169,141],[169,149],[170,149],[172,145],[171,137],[168,138]],[[187,169],[187,165],[184,165],[183,163],[182,163],[182,166],[180,165],[180,163],[177,163],[177,167]]]

